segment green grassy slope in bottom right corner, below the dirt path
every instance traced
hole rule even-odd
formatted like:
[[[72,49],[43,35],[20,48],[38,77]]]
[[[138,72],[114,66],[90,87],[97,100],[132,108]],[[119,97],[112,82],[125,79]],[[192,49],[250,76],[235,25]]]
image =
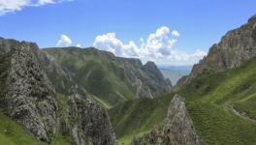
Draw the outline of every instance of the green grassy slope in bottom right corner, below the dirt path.
[[[221,105],[190,102],[187,108],[197,133],[206,144],[251,145],[256,141],[256,126]]]

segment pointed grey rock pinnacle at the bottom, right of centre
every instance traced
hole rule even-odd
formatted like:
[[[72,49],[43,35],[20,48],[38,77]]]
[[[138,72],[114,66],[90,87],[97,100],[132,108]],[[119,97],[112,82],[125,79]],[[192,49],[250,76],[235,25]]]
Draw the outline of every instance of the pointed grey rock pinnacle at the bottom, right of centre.
[[[139,138],[132,145],[202,145],[202,140],[193,129],[193,122],[178,95],[170,103],[168,116],[162,125]]]

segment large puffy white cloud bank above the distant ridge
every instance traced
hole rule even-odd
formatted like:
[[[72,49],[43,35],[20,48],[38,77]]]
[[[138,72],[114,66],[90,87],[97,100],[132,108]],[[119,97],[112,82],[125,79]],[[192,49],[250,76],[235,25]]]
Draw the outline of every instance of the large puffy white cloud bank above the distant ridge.
[[[207,54],[200,49],[191,54],[174,49],[179,36],[176,30],[171,31],[170,28],[163,26],[149,34],[146,39],[140,38],[140,44],[133,41],[123,43],[112,32],[97,36],[93,46],[111,51],[117,56],[136,57],[144,61],[151,60],[157,63],[170,62],[170,64],[173,62],[193,64]]]

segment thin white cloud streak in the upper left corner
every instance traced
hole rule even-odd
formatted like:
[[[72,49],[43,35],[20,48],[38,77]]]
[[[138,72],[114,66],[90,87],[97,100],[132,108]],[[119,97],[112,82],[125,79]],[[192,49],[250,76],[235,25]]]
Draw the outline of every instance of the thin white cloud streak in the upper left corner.
[[[24,7],[39,7],[71,0],[0,0],[0,15],[21,11]]]

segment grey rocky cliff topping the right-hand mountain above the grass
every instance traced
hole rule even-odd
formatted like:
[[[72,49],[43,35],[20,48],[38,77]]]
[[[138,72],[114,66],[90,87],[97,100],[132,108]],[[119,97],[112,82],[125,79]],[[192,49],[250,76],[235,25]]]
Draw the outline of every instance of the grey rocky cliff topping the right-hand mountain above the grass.
[[[222,72],[240,65],[256,56],[256,15],[240,28],[228,32],[220,41],[213,44],[199,64],[195,65],[192,72],[185,79],[177,83],[181,86],[191,78],[204,71]]]

